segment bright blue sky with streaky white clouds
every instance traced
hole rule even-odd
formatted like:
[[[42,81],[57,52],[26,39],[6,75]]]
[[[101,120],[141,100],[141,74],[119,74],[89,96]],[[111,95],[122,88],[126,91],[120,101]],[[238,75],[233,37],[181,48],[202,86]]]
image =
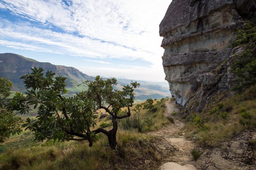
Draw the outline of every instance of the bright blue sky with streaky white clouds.
[[[159,24],[171,0],[0,0],[0,53],[104,77],[165,81]]]

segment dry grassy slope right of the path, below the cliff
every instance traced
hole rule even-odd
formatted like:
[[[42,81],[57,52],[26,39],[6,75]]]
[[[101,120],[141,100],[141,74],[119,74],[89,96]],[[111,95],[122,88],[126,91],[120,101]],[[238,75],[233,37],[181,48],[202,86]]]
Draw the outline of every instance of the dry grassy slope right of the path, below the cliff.
[[[197,134],[199,135],[199,139],[197,140],[199,144],[214,147],[220,146],[221,142],[228,141],[246,129],[256,127],[255,120],[252,120],[250,126],[242,126],[238,122],[241,118],[241,108],[245,108],[253,117],[256,117],[256,85],[249,87],[241,94],[236,94],[230,98],[216,102],[224,97],[225,93],[213,98],[212,102],[208,103],[202,113],[189,113],[190,116],[186,117],[187,123],[185,124],[185,129],[187,129],[186,137],[192,139]],[[211,110],[213,111],[221,104],[223,105],[222,109],[212,115],[209,114]],[[224,112],[228,113],[226,118],[220,115]],[[210,129],[199,129],[193,121],[193,114],[202,118],[204,126]]]

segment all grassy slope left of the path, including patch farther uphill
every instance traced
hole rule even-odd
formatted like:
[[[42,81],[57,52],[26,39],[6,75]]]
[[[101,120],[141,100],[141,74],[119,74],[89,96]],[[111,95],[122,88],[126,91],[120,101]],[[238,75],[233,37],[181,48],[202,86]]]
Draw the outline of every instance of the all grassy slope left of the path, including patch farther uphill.
[[[160,129],[170,123],[164,116],[165,100],[155,101],[155,113],[149,109],[143,110],[142,117],[152,117],[154,122],[147,131]],[[98,119],[97,126],[102,122],[110,120]],[[0,169],[122,169],[136,166],[137,160],[149,159],[158,163],[161,160],[153,146],[156,139],[138,133],[137,129],[122,130],[119,126],[118,148],[114,151],[109,148],[108,139],[103,134],[89,147],[87,142],[77,141],[30,145],[33,142],[31,138],[26,138],[26,135],[31,137],[28,133],[25,131],[4,143],[6,150],[0,154]],[[23,138],[26,140],[20,140]]]

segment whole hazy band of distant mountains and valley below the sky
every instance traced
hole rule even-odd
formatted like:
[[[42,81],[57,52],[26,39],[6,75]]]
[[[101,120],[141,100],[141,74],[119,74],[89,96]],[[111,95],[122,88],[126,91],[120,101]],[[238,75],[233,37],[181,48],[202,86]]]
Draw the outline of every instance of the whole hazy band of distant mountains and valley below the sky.
[[[0,54],[0,76],[12,82],[13,91],[25,91],[23,80],[20,77],[30,72],[33,67],[42,67],[44,72],[52,70],[57,76],[66,77],[69,95],[76,94],[85,89],[84,86],[77,86],[82,80],[93,79],[92,76],[88,76],[74,67],[41,63],[12,53]],[[131,81],[135,80],[123,79],[123,77],[117,78],[118,84],[115,88],[122,89],[123,85],[130,84]],[[156,83],[140,80],[137,80],[137,82],[141,84],[140,88],[135,90],[135,99],[138,101],[147,100],[148,98],[160,99],[171,95],[167,82]]]

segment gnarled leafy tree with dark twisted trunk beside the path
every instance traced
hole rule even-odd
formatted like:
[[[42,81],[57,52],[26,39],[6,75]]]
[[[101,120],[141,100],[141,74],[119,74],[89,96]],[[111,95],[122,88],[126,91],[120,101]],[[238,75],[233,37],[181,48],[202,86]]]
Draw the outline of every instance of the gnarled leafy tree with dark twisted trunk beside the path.
[[[114,90],[116,78],[103,80],[99,76],[94,81],[87,80],[81,85],[88,90],[73,97],[65,97],[66,78],[55,77],[55,73],[47,71],[45,76],[42,68],[31,69],[32,72],[21,77],[27,88],[27,96],[16,93],[10,107],[21,114],[28,113],[31,106],[38,109],[35,120],[27,118],[23,127],[35,133],[36,141],[52,138],[58,141],[88,140],[89,146],[97,139],[98,133],[107,135],[112,149],[116,147],[117,119],[131,115],[130,107],[134,102],[134,89],[140,84],[131,82],[122,90]],[[125,115],[119,115],[120,109],[127,107]],[[97,110],[105,109],[112,116],[113,128],[109,131],[96,128]]]

